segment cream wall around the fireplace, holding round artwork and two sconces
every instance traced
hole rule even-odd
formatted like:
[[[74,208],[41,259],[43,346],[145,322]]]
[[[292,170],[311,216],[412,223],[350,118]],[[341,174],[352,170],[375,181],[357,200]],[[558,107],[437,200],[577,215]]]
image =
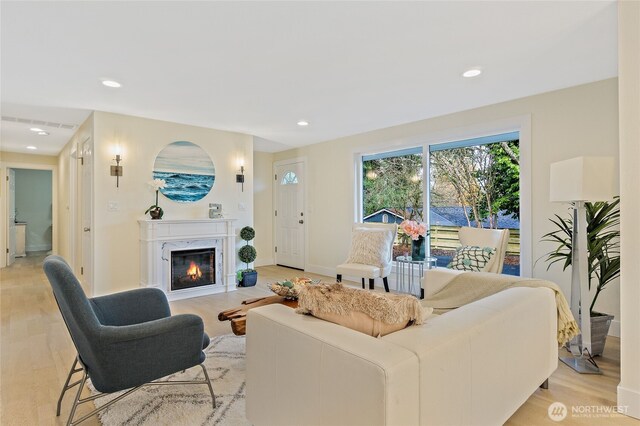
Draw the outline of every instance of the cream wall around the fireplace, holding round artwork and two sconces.
[[[95,112],[93,114],[93,294],[102,295],[139,286],[138,220],[155,202],[147,183],[152,179],[155,157],[174,141],[201,146],[216,169],[211,192],[195,203],[176,203],[160,195],[164,219],[208,217],[209,203],[222,203],[225,217],[236,218],[236,228],[253,224],[253,140],[248,135],[186,126],[157,120]],[[114,148],[122,149],[123,177],[116,188],[109,168]],[[61,154],[68,156],[70,146]],[[238,159],[244,158],[247,176],[244,192],[235,183]],[[66,182],[66,181],[65,181]],[[65,184],[63,182],[63,184]],[[71,200],[70,203],[73,201]],[[109,203],[117,211],[108,211]],[[70,244],[70,242],[68,243]],[[238,242],[238,247],[241,243]],[[237,255],[237,253],[235,254]]]

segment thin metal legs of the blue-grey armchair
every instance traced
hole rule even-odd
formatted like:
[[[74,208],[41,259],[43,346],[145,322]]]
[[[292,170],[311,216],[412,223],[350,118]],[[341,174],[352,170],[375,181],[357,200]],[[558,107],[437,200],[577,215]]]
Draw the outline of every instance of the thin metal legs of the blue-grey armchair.
[[[80,368],[76,368],[76,365],[80,365]],[[211,380],[209,379],[209,373],[207,373],[207,369],[204,366],[204,364],[200,364],[200,367],[202,368],[202,372],[204,373],[204,380],[165,380],[165,381],[154,381],[154,382],[149,382],[149,383],[145,383],[143,385],[140,386],[136,386],[134,388],[129,389],[128,391],[126,391],[125,393],[123,393],[122,395],[118,396],[117,398],[114,398],[113,400],[107,402],[106,404],[104,404],[101,407],[98,407],[96,409],[94,409],[93,411],[91,411],[90,413],[85,414],[84,416],[80,417],[78,420],[73,420],[73,418],[75,417],[76,414],[76,410],[78,408],[78,406],[80,404],[84,404],[85,402],[90,402],[90,401],[94,401],[100,397],[103,397],[105,395],[108,395],[107,393],[98,393],[96,395],[91,395],[88,396],[86,398],[81,398],[82,396],[82,390],[84,389],[85,384],[87,383],[87,369],[84,366],[84,364],[82,364],[82,361],[80,360],[79,357],[76,357],[75,361],[73,362],[73,365],[71,366],[71,370],[69,371],[69,375],[67,376],[67,380],[64,383],[64,386],[62,387],[62,392],[60,393],[60,398],[58,399],[58,407],[57,407],[57,411],[56,411],[56,416],[60,416],[60,406],[62,404],[62,398],[64,397],[65,392],[67,392],[69,389],[80,385],[78,387],[78,391],[76,392],[76,396],[73,400],[73,405],[71,406],[71,412],[69,413],[69,419],[67,420],[67,426],[75,426],[77,424],[82,423],[83,421],[87,420],[89,417],[99,413],[100,411],[104,410],[107,407],[110,407],[111,405],[115,404],[116,402],[120,401],[122,398],[125,398],[126,396],[128,396],[129,394],[132,394],[133,392],[137,391],[138,389],[140,389],[143,386],[156,386],[156,385],[204,385],[206,384],[209,387],[209,393],[211,393],[211,400],[213,402],[213,408],[216,408],[216,396],[213,393],[213,386],[211,386]],[[73,376],[75,373],[78,372],[82,372],[82,378],[76,382],[73,382],[72,384],[69,384],[69,382],[71,381],[71,376]]]

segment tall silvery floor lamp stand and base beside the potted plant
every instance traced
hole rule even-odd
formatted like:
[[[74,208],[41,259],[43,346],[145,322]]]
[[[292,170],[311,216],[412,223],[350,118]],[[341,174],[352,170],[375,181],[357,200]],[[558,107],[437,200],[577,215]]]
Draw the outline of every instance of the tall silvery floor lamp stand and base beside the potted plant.
[[[591,357],[591,312],[595,288],[589,289],[589,251],[587,247],[587,214],[584,201],[573,203],[573,232],[571,236],[571,313],[580,323],[580,334],[571,339],[570,357],[560,361],[581,374],[602,374]],[[583,315],[584,313],[584,315]]]

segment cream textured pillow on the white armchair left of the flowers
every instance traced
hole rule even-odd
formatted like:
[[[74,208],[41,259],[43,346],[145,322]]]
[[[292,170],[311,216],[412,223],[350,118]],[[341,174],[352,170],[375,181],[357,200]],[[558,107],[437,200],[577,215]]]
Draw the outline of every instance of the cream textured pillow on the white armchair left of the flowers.
[[[346,263],[373,265],[383,269],[389,261],[393,233],[387,229],[356,228]]]

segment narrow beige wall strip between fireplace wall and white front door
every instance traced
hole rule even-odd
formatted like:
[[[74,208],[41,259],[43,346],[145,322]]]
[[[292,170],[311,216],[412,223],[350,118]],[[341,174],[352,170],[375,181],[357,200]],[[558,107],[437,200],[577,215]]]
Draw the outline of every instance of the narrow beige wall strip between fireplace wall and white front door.
[[[256,265],[273,265],[273,154],[253,153],[253,205],[258,257]],[[270,212],[270,214],[265,214]]]

